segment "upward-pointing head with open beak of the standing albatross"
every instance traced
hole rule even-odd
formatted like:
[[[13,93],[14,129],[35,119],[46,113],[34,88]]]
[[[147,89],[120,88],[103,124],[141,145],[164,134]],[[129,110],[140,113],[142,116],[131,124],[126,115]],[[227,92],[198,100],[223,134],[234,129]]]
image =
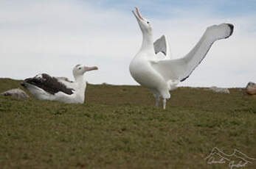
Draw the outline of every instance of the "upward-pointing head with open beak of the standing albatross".
[[[134,13],[135,18],[137,19],[138,23],[139,23],[139,27],[142,30],[142,33],[148,33],[150,35],[152,35],[152,26],[151,26],[151,22],[148,21],[147,19],[143,18],[141,13],[139,12],[139,8],[136,8],[136,12],[134,12],[134,10],[132,10],[132,12]]]

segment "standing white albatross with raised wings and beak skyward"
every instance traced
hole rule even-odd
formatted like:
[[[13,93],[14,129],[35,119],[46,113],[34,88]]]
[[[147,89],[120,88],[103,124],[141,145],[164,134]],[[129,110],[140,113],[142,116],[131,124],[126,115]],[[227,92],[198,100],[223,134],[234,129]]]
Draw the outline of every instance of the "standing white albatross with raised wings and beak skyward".
[[[142,17],[139,8],[136,13],[132,11],[142,30],[142,46],[129,69],[131,76],[144,87],[148,87],[156,98],[156,107],[159,98],[163,98],[165,109],[166,99],[170,98],[170,90],[176,89],[179,82],[184,81],[190,73],[200,64],[210,47],[216,40],[221,40],[232,35],[232,24],[219,24],[207,28],[196,46],[180,59],[170,59],[170,48],[165,35],[153,43],[151,23]],[[162,52],[167,59],[159,60],[156,54]]]

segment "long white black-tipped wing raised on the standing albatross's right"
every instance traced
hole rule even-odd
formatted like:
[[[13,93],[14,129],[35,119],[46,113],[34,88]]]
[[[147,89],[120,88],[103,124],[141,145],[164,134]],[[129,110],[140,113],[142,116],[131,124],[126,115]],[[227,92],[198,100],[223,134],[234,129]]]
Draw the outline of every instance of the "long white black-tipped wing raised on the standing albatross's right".
[[[201,37],[196,46],[183,58],[177,60],[158,60],[151,64],[165,80],[184,81],[206,56],[210,47],[216,40],[224,39],[232,35],[233,26],[231,24],[220,24],[210,26]]]

